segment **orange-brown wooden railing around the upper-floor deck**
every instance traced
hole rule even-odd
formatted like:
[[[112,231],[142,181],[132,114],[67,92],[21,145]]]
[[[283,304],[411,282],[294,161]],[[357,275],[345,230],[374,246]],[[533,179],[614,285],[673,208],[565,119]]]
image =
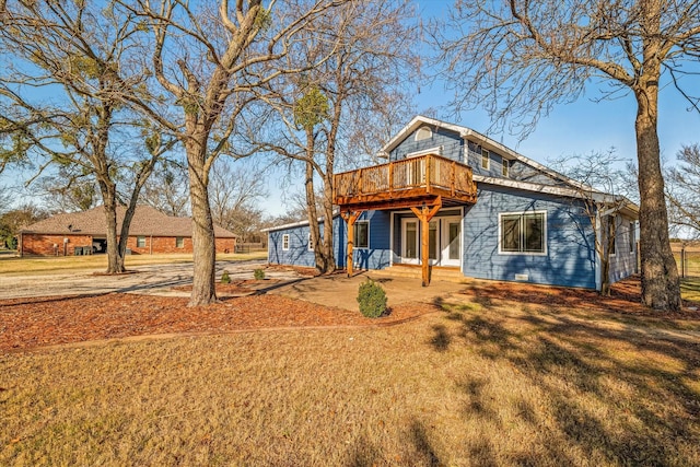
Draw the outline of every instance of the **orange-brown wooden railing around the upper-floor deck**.
[[[433,154],[343,172],[336,174],[334,182],[336,200],[381,194],[400,197],[416,188],[427,194],[440,190],[453,197],[476,196],[471,168]]]

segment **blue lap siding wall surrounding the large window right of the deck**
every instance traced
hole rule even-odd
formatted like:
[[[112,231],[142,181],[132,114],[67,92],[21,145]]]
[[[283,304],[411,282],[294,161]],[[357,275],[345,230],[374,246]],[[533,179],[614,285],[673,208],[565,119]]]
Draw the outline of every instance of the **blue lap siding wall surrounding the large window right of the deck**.
[[[547,255],[499,254],[499,213],[547,211]],[[595,244],[588,218],[572,201],[494,186],[480,186],[465,208],[465,276],[595,289]]]

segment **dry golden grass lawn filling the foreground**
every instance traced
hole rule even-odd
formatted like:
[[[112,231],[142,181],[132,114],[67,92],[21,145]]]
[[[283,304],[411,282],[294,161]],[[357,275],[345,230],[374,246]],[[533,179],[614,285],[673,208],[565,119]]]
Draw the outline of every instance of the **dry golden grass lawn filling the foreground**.
[[[5,353],[0,465],[700,465],[699,322],[439,304]]]

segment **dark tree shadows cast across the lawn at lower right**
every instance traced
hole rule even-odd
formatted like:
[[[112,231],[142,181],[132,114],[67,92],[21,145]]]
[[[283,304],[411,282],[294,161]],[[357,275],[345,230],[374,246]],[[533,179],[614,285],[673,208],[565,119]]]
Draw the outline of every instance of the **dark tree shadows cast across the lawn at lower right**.
[[[509,384],[542,395],[537,409],[516,397],[520,389],[494,401],[490,393],[503,382],[488,369],[487,376],[467,374],[456,382],[469,400],[468,420],[499,424],[498,411],[515,412],[537,429],[537,454],[502,453],[508,459],[526,465],[700,463],[700,337],[655,332],[657,318],[620,323],[610,313],[582,317],[569,306],[515,310],[487,299],[477,306],[438,300],[443,324],[433,326],[428,345],[441,353],[469,348],[498,367],[512,369]],[[664,320],[664,328],[676,326]],[[479,443],[475,453],[490,452],[488,440]],[[572,448],[580,453],[573,458]]]

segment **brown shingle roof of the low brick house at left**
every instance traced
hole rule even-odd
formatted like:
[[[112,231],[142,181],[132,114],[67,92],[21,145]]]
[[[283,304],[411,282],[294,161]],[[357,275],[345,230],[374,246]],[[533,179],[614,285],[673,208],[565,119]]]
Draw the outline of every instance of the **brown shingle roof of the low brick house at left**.
[[[117,225],[124,221],[125,207],[117,208]],[[104,207],[90,209],[83,212],[57,214],[34,224],[27,225],[22,233],[59,234],[59,235],[106,235],[107,221]],[[191,218],[174,218],[151,208],[150,206],[137,206],[129,226],[129,235],[145,236],[192,236]],[[214,225],[217,238],[235,238],[235,235],[225,229]]]

